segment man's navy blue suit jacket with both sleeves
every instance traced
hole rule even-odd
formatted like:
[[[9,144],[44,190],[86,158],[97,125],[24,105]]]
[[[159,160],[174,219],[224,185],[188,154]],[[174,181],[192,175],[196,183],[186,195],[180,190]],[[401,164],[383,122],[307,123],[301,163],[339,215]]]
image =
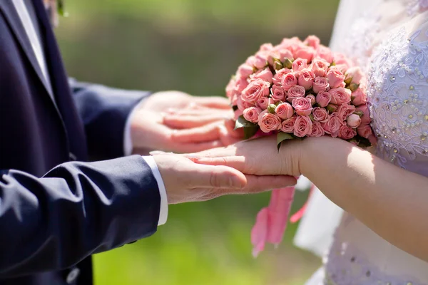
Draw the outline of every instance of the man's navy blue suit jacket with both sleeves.
[[[0,0],[0,284],[91,284],[91,254],[156,232],[150,167],[117,158],[148,94],[68,83],[41,2],[51,94],[14,5]]]

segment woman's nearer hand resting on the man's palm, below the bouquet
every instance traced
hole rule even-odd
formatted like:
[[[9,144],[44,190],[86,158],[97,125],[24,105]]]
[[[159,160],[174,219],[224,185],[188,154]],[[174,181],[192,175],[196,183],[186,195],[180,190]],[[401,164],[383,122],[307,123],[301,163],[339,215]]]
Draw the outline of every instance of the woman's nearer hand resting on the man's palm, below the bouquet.
[[[282,142],[277,150],[275,136],[237,142],[228,147],[187,155],[190,160],[205,165],[226,165],[249,175],[299,176],[305,140]]]

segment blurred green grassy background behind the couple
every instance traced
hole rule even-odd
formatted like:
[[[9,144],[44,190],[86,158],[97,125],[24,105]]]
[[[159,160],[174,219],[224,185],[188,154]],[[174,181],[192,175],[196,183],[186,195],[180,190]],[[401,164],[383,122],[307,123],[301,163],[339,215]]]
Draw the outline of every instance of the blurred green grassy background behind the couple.
[[[56,30],[70,76],[119,88],[223,95],[261,43],[328,44],[338,0],[68,0]],[[293,211],[307,193],[297,193]],[[303,284],[320,260],[292,246],[253,259],[250,229],[269,194],[169,207],[148,239],[95,257],[101,284]]]

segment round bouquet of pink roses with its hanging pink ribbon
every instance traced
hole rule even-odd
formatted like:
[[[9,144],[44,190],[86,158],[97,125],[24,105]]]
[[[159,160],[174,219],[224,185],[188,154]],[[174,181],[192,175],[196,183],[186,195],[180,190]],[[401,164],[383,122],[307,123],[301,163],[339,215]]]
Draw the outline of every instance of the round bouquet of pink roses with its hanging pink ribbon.
[[[265,43],[239,66],[226,87],[235,128],[245,138],[277,135],[284,140],[330,135],[362,147],[374,143],[359,67],[320,44],[316,36]],[[254,254],[265,242],[279,244],[287,224],[294,187],[274,190],[252,232]]]

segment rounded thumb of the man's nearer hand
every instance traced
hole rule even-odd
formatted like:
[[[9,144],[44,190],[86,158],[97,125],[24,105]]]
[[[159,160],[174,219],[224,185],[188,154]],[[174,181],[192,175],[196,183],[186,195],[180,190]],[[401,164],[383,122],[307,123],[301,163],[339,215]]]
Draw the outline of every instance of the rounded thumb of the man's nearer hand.
[[[201,165],[198,172],[190,173],[193,176],[192,186],[210,189],[240,190],[247,185],[243,173],[227,166]]]

